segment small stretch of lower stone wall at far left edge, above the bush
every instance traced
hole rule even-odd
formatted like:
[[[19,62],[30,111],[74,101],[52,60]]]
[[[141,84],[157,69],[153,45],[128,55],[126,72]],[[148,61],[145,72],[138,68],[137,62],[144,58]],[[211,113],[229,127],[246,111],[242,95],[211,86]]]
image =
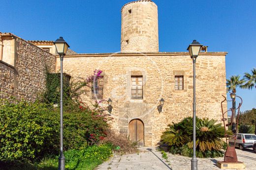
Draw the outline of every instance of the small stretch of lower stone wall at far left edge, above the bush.
[[[0,98],[13,96],[14,72],[14,67],[0,60]]]

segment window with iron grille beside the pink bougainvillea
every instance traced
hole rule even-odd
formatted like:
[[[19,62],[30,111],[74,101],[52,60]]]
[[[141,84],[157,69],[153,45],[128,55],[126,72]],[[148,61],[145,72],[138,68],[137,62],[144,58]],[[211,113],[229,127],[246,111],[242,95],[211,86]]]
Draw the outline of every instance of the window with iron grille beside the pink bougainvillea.
[[[95,82],[92,82],[92,98],[103,98],[103,77],[97,78]]]

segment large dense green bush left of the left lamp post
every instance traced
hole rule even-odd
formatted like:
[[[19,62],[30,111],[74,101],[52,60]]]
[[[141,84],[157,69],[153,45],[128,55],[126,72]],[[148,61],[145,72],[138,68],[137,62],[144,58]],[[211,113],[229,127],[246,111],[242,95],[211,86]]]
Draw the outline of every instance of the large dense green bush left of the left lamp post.
[[[59,120],[48,105],[0,102],[0,160],[32,160],[56,151]]]

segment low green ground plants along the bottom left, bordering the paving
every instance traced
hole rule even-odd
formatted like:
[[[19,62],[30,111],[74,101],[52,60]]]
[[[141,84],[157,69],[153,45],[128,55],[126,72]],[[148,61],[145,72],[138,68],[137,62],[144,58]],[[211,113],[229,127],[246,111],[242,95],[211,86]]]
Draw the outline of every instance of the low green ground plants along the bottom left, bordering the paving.
[[[112,156],[111,145],[89,146],[64,151],[66,170],[95,170]],[[59,155],[45,156],[40,162],[1,162],[0,170],[58,170]]]

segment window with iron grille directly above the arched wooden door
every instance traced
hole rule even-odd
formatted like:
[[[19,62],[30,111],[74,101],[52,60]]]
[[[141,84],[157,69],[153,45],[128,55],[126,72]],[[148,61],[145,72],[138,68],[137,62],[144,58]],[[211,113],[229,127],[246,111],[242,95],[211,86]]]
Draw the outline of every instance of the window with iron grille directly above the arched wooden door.
[[[131,76],[131,99],[143,98],[143,77]]]

